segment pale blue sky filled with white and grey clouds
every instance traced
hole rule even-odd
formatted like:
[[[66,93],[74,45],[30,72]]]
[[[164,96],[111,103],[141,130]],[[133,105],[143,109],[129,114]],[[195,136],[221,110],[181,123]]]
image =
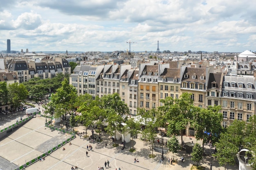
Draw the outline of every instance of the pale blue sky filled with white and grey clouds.
[[[0,50],[256,51],[255,0],[1,0]]]

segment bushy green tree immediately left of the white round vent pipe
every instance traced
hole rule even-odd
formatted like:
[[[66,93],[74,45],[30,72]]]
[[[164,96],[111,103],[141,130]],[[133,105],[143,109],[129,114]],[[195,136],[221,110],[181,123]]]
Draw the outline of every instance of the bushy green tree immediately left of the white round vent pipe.
[[[232,141],[232,134],[220,133],[219,142],[216,142],[216,150],[217,152],[213,156],[216,157],[220,165],[225,166],[225,170],[227,163],[234,165],[238,147]]]

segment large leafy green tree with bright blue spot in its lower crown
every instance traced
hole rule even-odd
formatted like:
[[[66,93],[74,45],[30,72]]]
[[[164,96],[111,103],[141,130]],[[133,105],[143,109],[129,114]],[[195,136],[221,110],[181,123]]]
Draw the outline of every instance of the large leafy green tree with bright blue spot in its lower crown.
[[[204,152],[204,143],[211,140],[214,144],[218,140],[219,133],[222,129],[220,122],[222,121],[222,113],[220,106],[209,106],[207,109],[194,107],[192,109],[193,118],[190,121],[191,126],[195,129],[195,138],[202,139],[202,150]],[[207,133],[211,133],[207,135]]]

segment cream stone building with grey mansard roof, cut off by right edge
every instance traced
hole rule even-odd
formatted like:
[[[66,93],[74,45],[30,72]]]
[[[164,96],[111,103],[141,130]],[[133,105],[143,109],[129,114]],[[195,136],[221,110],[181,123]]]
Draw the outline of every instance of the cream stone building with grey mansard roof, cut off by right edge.
[[[248,121],[255,114],[256,79],[254,76],[224,76],[222,83],[221,105],[226,127],[237,120]]]

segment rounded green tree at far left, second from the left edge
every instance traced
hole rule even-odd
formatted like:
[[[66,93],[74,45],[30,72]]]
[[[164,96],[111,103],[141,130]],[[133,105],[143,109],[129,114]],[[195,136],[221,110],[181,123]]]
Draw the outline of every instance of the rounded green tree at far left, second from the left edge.
[[[12,83],[8,85],[9,101],[14,107],[20,106],[21,102],[24,102],[28,96],[28,91],[23,84]]]

